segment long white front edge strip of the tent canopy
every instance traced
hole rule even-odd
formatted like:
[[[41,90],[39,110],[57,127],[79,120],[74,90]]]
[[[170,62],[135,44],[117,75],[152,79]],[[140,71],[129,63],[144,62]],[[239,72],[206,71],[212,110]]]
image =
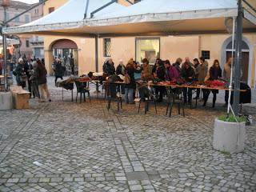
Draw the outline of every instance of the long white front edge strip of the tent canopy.
[[[116,26],[127,23],[139,22],[161,22],[161,21],[175,21],[175,20],[188,20],[188,19],[205,19],[205,18],[223,18],[223,17],[236,17],[238,15],[237,9],[218,9],[218,10],[197,10],[197,11],[184,11],[174,13],[161,13],[161,14],[139,14],[128,17],[119,18],[90,18],[80,22],[63,22],[52,23],[47,25],[35,26],[18,26],[8,27],[3,29],[4,34],[26,34],[32,32],[50,31],[50,30],[65,30],[65,29],[78,29],[83,26]],[[143,17],[142,17],[143,16]]]

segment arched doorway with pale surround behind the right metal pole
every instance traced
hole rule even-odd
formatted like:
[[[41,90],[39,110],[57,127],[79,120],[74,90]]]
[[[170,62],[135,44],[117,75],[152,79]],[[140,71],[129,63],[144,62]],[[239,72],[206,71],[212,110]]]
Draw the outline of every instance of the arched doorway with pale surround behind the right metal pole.
[[[235,43],[235,42],[234,42]],[[251,86],[251,70],[253,65],[253,46],[247,38],[242,38],[242,82]],[[235,50],[233,50],[235,51]],[[229,58],[232,57],[232,37],[227,38],[222,45],[222,69]]]

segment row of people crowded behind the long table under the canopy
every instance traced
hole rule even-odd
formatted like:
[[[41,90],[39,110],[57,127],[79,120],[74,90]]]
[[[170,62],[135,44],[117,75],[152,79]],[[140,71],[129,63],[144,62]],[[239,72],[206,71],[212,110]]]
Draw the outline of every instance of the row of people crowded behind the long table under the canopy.
[[[229,59],[224,67],[224,78],[226,78],[226,81],[230,80],[231,62],[232,60]],[[157,79],[159,82],[174,81],[180,79],[186,83],[192,83],[213,81],[222,78],[222,69],[218,60],[214,60],[213,65],[209,66],[208,62],[206,62],[206,59],[202,57],[199,59],[194,58],[193,62],[190,62],[190,58],[188,57],[184,59],[184,62],[182,62],[182,58],[177,58],[176,62],[173,64],[171,64],[169,60],[163,61],[162,59],[157,58],[153,68],[150,67],[150,63],[146,58],[142,60],[142,66],[139,62],[135,62],[134,59],[131,58],[126,65],[122,60],[120,60],[118,66],[115,68],[114,62],[110,58],[104,63],[103,72],[108,76],[121,74],[125,78],[126,76],[130,78],[129,83],[126,83],[123,86],[125,91],[122,91],[122,94],[125,94],[126,103],[134,103],[134,90],[136,89],[136,81],[138,79]],[[155,94],[157,95],[158,102],[162,102],[163,95],[166,91],[165,87],[155,86],[154,90]],[[118,91],[120,91],[119,87]],[[183,88],[182,91],[184,103],[190,105],[192,102],[192,89]],[[218,90],[203,89],[202,92],[203,106],[206,106],[210,92],[212,92],[214,95],[212,107],[214,107]],[[197,90],[197,95],[194,99],[198,99],[199,96],[200,89]],[[228,98],[228,96],[226,98]],[[227,103],[227,99],[225,100]]]

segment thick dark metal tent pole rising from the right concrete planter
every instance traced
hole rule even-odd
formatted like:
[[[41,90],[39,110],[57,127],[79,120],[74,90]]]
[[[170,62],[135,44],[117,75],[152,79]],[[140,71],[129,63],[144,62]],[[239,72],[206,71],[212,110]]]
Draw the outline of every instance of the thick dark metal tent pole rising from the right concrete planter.
[[[237,17],[237,30],[236,30],[236,45],[235,45],[235,62],[234,62],[234,114],[239,114],[239,101],[240,101],[240,77],[241,77],[241,64],[242,64],[242,0],[238,0],[238,17]]]

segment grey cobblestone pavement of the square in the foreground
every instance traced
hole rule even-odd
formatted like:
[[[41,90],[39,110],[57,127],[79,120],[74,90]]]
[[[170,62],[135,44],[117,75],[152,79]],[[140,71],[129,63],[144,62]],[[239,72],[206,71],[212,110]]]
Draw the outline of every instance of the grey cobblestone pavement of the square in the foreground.
[[[52,79],[50,79],[52,81]],[[50,86],[53,102],[0,111],[0,191],[256,191],[256,126],[246,126],[246,150],[212,148],[213,122],[225,110],[137,107],[92,98],[70,102]],[[254,105],[245,106],[254,115]]]

